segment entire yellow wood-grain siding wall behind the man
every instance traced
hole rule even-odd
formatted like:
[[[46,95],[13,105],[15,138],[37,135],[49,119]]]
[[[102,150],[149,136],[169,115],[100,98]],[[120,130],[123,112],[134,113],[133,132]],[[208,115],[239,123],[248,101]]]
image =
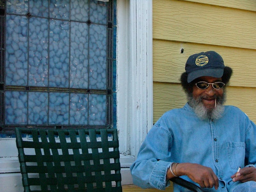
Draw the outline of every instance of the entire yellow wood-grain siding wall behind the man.
[[[154,122],[186,103],[180,74],[189,55],[208,50],[233,69],[226,104],[256,122],[256,1],[153,0]]]

